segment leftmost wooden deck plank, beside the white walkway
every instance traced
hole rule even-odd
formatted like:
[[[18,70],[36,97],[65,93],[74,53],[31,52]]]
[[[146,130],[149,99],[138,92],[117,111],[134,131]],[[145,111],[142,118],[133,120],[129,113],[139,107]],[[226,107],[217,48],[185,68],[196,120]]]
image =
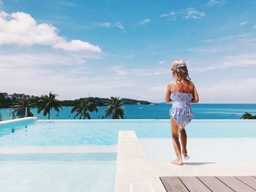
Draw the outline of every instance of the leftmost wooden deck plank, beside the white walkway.
[[[178,177],[159,177],[167,192],[189,192]]]

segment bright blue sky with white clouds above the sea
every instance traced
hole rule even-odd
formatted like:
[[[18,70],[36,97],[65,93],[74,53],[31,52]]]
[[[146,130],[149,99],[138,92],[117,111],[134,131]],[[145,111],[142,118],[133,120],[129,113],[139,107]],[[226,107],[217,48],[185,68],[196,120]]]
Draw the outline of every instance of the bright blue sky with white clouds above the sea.
[[[255,0],[0,0],[0,92],[165,101],[184,59],[200,103],[256,103]]]

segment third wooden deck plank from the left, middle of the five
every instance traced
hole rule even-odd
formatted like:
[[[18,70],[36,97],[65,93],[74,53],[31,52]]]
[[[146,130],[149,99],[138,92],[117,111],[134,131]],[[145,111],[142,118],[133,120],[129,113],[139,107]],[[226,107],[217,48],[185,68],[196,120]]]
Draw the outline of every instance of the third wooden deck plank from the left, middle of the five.
[[[224,183],[218,180],[216,177],[197,177],[201,182],[203,182],[211,191],[225,191],[225,192],[233,192],[232,189],[227,187]]]

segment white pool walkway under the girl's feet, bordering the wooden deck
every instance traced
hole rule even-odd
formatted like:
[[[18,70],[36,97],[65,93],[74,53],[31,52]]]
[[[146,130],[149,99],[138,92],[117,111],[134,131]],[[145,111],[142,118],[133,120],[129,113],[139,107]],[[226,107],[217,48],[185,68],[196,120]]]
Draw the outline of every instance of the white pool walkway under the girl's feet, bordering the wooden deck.
[[[119,131],[115,192],[164,192],[159,180],[162,176],[238,175],[256,175],[256,161],[246,164],[190,162],[184,166],[170,164],[169,160],[154,162],[148,159],[135,131]]]

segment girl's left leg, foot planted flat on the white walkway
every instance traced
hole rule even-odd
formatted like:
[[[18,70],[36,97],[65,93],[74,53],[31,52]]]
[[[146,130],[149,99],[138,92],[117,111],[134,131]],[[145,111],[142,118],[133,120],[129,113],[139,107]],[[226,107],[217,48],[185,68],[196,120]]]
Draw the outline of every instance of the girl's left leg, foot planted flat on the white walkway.
[[[170,125],[171,125],[171,129],[172,129],[173,147],[174,147],[175,153],[177,155],[177,159],[171,161],[171,163],[183,165],[182,157],[181,157],[181,145],[178,141],[178,123],[176,123],[174,118],[170,118]]]

